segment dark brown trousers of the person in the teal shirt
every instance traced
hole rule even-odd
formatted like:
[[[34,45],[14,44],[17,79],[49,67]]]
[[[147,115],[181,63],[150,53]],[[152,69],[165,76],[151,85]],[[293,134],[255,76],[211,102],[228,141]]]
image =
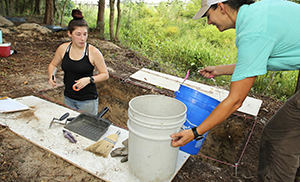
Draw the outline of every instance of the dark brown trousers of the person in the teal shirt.
[[[294,182],[300,174],[300,91],[266,124],[260,143],[258,181]]]

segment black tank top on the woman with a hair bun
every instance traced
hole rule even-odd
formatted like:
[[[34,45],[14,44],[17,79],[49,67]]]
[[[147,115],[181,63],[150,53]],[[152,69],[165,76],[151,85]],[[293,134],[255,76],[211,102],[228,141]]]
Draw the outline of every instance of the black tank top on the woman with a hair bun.
[[[71,44],[68,46],[64,58],[62,60],[61,68],[64,71],[64,84],[65,84],[65,96],[79,100],[93,100],[97,99],[97,88],[94,83],[89,83],[84,88],[79,91],[73,90],[73,85],[76,83],[75,80],[79,80],[83,77],[93,76],[94,66],[90,63],[89,60],[89,49],[88,43],[83,53],[83,56],[80,60],[72,60],[69,56]]]

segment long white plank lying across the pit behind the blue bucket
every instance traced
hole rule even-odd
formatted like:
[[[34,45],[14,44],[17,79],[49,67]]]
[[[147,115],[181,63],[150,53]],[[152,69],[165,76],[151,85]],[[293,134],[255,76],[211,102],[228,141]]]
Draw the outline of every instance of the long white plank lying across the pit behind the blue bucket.
[[[130,78],[140,80],[158,87],[162,87],[172,91],[178,91],[183,78],[160,73],[157,71],[142,68],[130,76]],[[202,83],[186,80],[184,85],[193,88],[203,94],[214,99],[223,101],[229,94],[229,91],[220,89],[217,86],[209,86]],[[257,116],[262,100],[253,97],[246,97],[243,105],[238,109],[239,112]]]

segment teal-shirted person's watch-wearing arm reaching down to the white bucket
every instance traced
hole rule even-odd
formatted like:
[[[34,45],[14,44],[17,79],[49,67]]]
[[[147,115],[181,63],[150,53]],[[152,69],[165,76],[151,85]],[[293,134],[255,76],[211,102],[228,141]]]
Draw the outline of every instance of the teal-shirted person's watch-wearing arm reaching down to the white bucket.
[[[256,77],[249,77],[240,81],[232,82],[228,97],[223,100],[211,114],[197,127],[199,134],[204,134],[216,125],[222,123],[233,112],[242,106]],[[184,130],[171,135],[172,146],[184,146],[194,139],[192,130]]]

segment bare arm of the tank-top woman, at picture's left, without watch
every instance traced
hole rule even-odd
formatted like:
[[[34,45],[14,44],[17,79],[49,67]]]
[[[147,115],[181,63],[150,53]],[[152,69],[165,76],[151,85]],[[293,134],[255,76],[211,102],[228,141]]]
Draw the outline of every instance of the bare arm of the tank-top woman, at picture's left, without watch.
[[[57,66],[62,62],[65,48],[66,48],[66,44],[60,45],[57,48],[54,58],[52,59],[52,61],[48,66],[49,84],[52,87],[56,86],[55,72],[57,70]]]

